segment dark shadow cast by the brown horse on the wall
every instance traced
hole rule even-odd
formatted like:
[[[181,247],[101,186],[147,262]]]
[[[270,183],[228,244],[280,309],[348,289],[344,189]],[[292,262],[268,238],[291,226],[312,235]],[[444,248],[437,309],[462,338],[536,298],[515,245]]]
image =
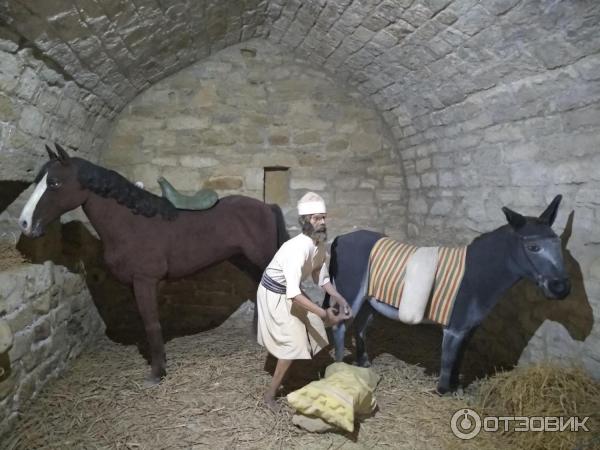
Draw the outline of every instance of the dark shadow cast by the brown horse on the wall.
[[[51,260],[82,273],[107,336],[122,344],[141,344],[140,350],[146,353],[146,335],[133,291],[107,271],[102,243],[81,222],[56,221],[40,238],[21,236],[17,249],[33,263]],[[256,284],[229,262],[185,279],[161,282],[158,302],[165,342],[219,326],[255,295]]]

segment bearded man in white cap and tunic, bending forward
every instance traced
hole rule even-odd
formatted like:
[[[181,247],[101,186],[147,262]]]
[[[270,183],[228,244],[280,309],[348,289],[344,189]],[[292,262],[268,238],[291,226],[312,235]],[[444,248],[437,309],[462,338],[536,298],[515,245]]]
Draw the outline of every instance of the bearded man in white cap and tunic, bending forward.
[[[302,233],[281,246],[258,287],[258,343],[277,358],[264,395],[272,410],[277,410],[275,395],[292,361],[311,359],[328,344],[324,325],[335,325],[351,316],[348,303],[329,281],[326,213],[325,201],[318,194],[308,192],[300,199]],[[300,290],[300,283],[309,275],[331,296],[332,307],[321,308]],[[337,314],[332,309],[336,305]]]

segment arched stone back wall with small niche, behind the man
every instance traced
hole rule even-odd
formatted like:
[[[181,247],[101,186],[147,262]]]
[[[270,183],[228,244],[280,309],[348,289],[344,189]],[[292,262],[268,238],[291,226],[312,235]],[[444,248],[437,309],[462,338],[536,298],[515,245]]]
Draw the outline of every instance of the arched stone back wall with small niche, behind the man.
[[[404,178],[386,125],[361,95],[268,41],[236,45],[162,80],[115,120],[102,163],[158,190],[213,188],[263,199],[265,167],[289,168],[281,204],[314,190],[331,235],[355,226],[402,237]]]

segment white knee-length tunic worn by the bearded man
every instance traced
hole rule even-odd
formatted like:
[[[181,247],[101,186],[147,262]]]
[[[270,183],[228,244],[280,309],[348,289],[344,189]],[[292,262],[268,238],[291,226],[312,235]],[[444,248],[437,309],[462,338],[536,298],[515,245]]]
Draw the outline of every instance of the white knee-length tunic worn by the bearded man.
[[[294,305],[300,283],[312,275],[315,283],[329,282],[324,243],[315,245],[305,234],[286,241],[265,269],[273,280],[286,286],[285,294],[258,287],[258,343],[278,359],[310,359],[329,342],[323,321]]]

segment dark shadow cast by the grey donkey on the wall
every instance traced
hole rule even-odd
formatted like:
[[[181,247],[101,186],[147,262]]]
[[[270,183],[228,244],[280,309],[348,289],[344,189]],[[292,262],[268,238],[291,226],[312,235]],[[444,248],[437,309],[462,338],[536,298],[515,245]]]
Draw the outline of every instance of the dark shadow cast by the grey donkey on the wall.
[[[574,212],[571,212],[561,236],[565,266],[572,286],[569,296],[564,300],[546,299],[528,280],[513,286],[468,344],[461,370],[463,383],[494,374],[496,370],[513,368],[545,320],[560,323],[575,340],[584,341],[589,336],[594,324],[593,311],[579,263],[566,249],[573,219]],[[371,357],[390,353],[409,364],[424,367],[427,373],[439,373],[442,343],[439,326],[404,325],[376,314],[368,339]]]

